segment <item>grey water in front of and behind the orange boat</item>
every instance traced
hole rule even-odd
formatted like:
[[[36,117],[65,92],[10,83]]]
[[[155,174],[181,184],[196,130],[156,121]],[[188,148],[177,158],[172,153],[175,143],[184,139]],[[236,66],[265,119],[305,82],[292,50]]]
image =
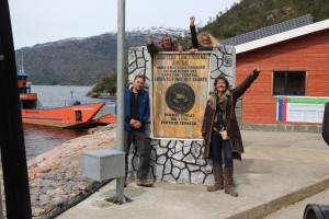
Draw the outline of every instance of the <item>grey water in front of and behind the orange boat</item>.
[[[97,102],[98,99],[87,97],[92,87],[32,85],[43,106],[61,106],[64,102]],[[87,130],[60,129],[47,126],[24,124],[26,159],[53,149],[65,141],[83,136]]]

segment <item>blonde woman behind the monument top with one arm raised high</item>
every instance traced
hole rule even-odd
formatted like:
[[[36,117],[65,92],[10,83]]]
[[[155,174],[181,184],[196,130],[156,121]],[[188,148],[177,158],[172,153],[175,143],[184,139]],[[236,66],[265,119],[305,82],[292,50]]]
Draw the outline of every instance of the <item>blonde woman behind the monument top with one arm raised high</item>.
[[[190,18],[190,32],[191,32],[191,39],[192,39],[192,49],[190,53],[194,53],[197,50],[213,50],[214,46],[218,46],[219,42],[208,32],[201,32],[196,37],[196,30],[195,30],[195,16]]]

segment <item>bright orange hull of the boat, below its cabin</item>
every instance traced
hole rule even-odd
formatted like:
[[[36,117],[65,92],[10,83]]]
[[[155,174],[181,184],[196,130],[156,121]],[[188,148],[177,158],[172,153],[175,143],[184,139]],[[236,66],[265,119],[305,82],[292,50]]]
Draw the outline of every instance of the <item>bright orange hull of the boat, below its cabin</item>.
[[[92,103],[57,107],[49,110],[22,110],[22,119],[26,124],[54,126],[59,128],[87,128],[104,103]]]

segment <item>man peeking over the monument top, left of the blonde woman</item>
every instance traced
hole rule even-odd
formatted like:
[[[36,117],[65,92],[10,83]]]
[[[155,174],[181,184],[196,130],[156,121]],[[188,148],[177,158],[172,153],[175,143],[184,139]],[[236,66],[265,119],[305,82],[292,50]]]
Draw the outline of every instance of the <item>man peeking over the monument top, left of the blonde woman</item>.
[[[162,36],[162,39],[158,43],[158,45],[154,44],[154,41],[151,37],[148,37],[146,41],[147,50],[150,54],[157,54],[159,51],[183,51],[182,46],[177,46],[169,34],[164,34]]]

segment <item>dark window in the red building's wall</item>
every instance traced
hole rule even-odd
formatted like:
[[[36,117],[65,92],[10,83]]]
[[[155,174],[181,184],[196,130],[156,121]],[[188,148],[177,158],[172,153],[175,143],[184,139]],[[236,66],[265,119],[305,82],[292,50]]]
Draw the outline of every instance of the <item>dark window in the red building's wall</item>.
[[[305,95],[305,71],[274,71],[273,95]]]

